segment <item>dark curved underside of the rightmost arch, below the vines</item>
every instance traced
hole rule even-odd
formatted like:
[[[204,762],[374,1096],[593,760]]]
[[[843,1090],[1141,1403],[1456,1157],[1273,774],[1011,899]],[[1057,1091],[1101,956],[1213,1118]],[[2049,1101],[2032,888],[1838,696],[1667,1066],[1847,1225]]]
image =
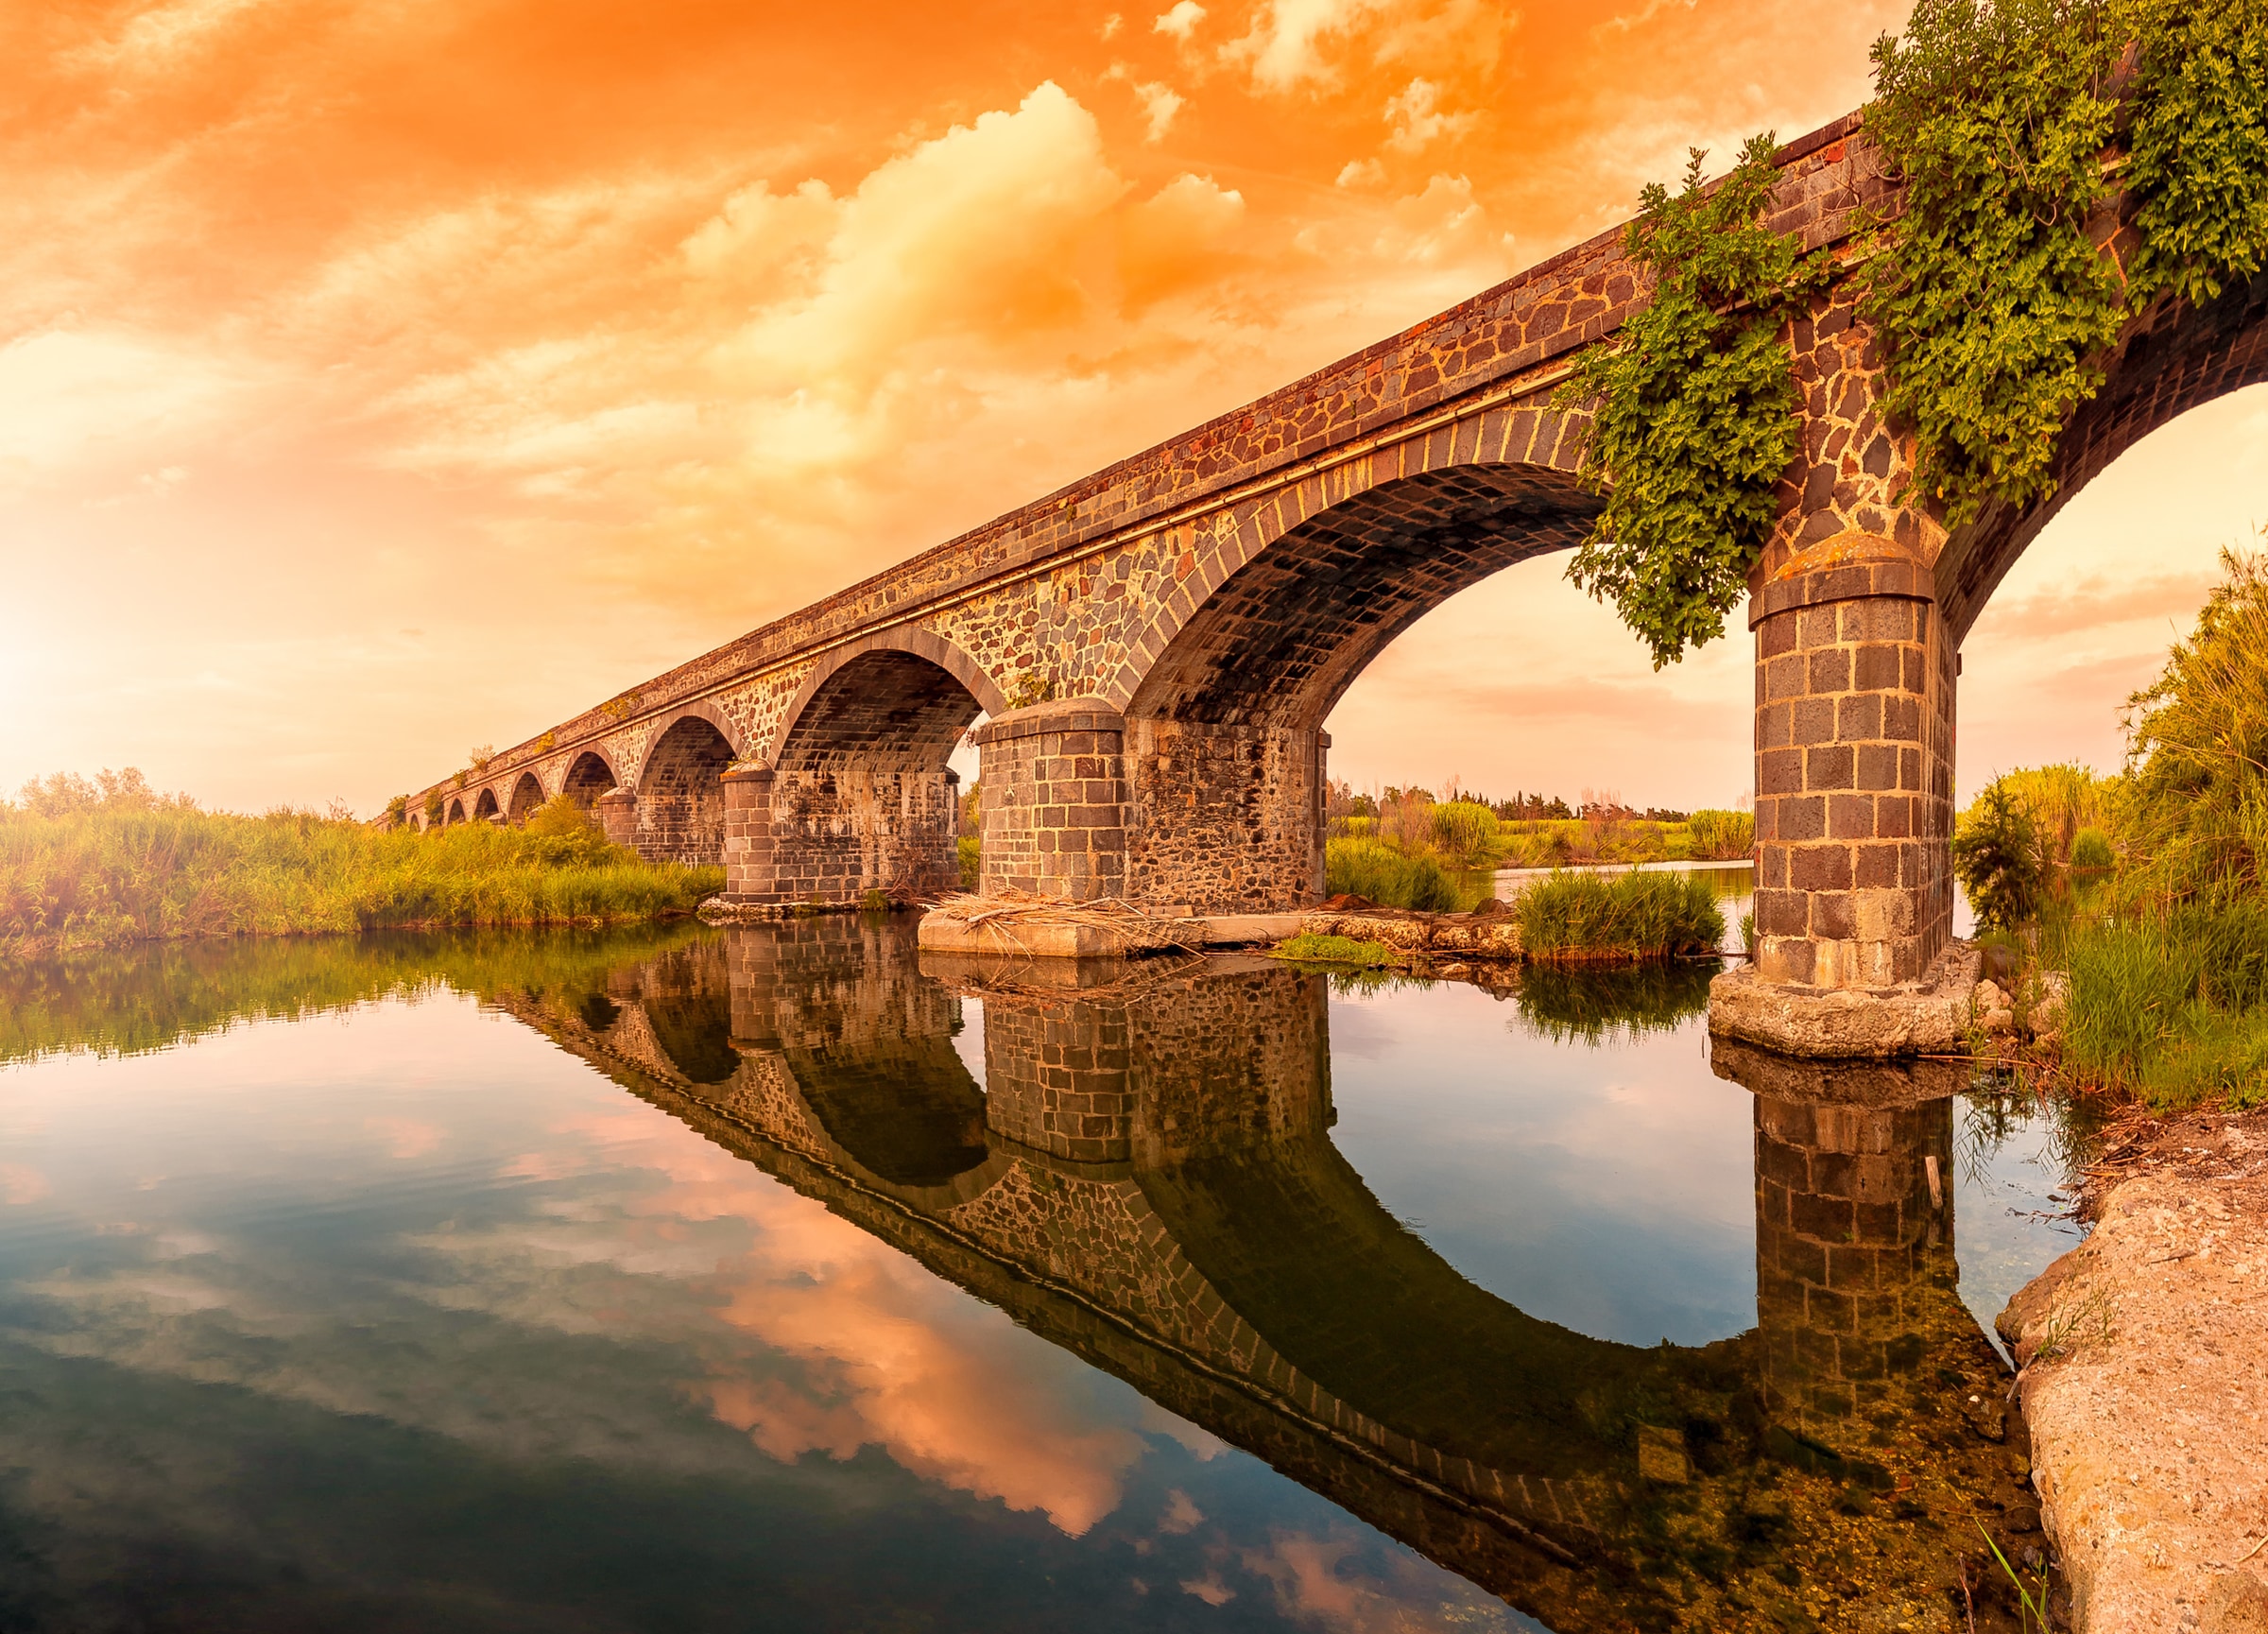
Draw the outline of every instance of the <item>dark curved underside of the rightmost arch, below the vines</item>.
[[[2214,397],[2268,381],[2268,272],[2204,306],[2161,300],[2121,340],[2102,390],[2064,429],[2055,495],[1987,506],[1937,554],[1937,604],[1955,647],[2039,531],[2141,438]]]

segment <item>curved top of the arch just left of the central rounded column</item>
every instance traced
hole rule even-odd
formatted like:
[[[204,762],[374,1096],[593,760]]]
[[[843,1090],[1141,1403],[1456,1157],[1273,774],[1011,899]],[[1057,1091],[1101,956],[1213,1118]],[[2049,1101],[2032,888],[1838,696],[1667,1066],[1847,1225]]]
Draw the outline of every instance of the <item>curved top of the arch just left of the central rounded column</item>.
[[[780,713],[771,765],[816,772],[855,760],[943,772],[978,713],[1007,713],[982,665],[925,629],[882,631],[812,665]]]

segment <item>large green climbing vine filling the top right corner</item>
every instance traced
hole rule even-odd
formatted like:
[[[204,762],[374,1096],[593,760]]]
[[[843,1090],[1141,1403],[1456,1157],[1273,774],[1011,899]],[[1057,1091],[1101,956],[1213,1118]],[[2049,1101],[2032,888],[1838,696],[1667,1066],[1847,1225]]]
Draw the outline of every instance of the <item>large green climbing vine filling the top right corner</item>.
[[[1960,524],[2055,492],[2055,443],[2150,297],[2204,300],[2261,268],[2268,16],[2261,0],[1919,0],[1873,66],[1867,132],[1905,200],[1878,222],[1867,315],[1916,481]],[[2105,163],[2121,120],[2123,177]],[[2089,234],[2118,184],[2132,277]]]

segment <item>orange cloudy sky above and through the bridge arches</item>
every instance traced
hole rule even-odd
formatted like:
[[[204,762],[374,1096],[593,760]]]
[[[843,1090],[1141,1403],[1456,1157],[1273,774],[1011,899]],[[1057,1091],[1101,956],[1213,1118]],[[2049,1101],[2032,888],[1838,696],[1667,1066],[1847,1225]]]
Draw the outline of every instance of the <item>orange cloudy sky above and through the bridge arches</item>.
[[[0,787],[374,810],[1826,123],[1901,18],[9,7]],[[2263,449],[2227,399],[2057,520],[1964,783],[2112,760]],[[1656,676],[1542,561],[1390,649],[1334,769],[1724,803],[1746,706],[1744,635]]]

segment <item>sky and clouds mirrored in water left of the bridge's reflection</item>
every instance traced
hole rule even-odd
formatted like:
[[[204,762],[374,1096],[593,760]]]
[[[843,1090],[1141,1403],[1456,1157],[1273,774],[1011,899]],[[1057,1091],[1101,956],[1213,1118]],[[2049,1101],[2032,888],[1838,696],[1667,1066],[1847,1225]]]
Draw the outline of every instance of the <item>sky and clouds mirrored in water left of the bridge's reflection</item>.
[[[66,1536],[59,1582],[166,1557],[311,1607],[383,1582],[411,1625],[503,1595],[633,1627],[583,1616],[619,1584],[569,1566],[683,1555],[880,1616],[887,1573],[848,1561],[905,1557],[964,1611],[1077,1577],[1111,1620],[1105,1586],[1139,1600],[1141,1570],[1173,1600],[1216,1577],[1261,1623],[1365,1627],[1320,1577],[1279,1591],[1261,1545],[1327,1532],[1322,1500],[515,1024],[429,1003],[340,1030],[11,1078],[7,1180],[36,1207],[0,1216],[0,1371],[32,1423],[0,1532]],[[440,1559],[435,1514],[463,1536],[408,1582],[397,1561]],[[531,1534],[567,1561],[538,1589],[515,1577],[547,1557]],[[1411,1627],[1488,1609],[1359,1536],[1334,1580]],[[302,1625],[352,1625],[340,1604]]]

